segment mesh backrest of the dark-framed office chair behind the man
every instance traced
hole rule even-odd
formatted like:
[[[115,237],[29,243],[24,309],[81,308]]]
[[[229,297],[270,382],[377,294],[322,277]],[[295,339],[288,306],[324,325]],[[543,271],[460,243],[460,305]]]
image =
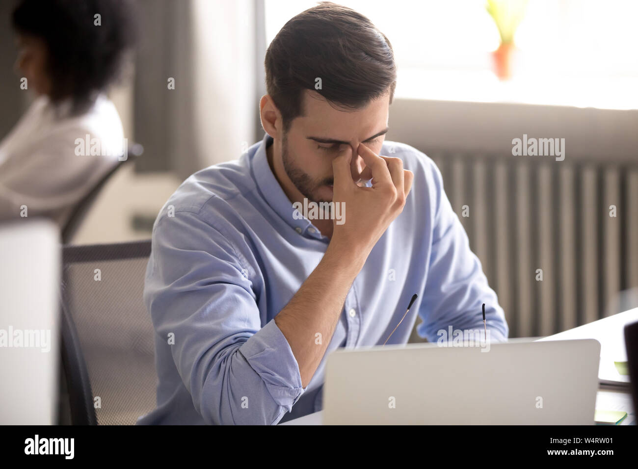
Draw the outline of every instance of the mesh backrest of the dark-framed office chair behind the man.
[[[60,423],[131,425],[155,408],[154,329],[142,299],[150,253],[150,240],[63,247],[61,407],[70,418]]]

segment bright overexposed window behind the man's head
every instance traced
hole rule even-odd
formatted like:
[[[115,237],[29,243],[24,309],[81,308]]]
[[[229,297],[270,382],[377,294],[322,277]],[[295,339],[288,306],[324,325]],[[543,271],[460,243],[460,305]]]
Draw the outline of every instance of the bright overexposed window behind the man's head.
[[[638,108],[638,2],[529,0],[514,40],[514,76],[501,82],[498,29],[482,0],[343,0],[389,38],[396,96]],[[266,42],[315,1],[265,0]]]

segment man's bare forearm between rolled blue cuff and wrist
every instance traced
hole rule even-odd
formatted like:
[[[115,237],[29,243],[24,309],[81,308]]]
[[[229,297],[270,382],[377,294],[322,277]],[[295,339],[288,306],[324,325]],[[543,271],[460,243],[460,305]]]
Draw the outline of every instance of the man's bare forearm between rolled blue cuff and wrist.
[[[304,388],[325,354],[352,282],[365,262],[365,255],[330,244],[315,270],[275,317],[297,359]]]

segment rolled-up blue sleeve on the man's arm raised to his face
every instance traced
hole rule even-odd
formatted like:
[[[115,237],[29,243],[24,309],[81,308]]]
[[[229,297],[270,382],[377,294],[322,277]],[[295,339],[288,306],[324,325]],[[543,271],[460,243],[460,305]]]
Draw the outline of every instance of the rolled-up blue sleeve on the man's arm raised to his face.
[[[262,324],[255,267],[220,229],[197,212],[159,218],[144,300],[206,423],[276,424],[304,392],[299,366],[274,320]]]

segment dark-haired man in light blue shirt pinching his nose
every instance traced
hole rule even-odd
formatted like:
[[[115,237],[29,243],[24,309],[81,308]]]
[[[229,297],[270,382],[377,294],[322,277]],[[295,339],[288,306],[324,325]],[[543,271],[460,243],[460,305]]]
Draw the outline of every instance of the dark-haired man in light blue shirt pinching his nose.
[[[138,423],[316,412],[327,355],[383,344],[415,293],[389,344],[408,341],[417,315],[429,341],[482,331],[483,303],[487,338],[507,338],[438,168],[384,141],[396,86],[387,38],[322,3],[281,29],[265,67],[262,142],[191,175],[154,225],[144,297],[158,408]]]

